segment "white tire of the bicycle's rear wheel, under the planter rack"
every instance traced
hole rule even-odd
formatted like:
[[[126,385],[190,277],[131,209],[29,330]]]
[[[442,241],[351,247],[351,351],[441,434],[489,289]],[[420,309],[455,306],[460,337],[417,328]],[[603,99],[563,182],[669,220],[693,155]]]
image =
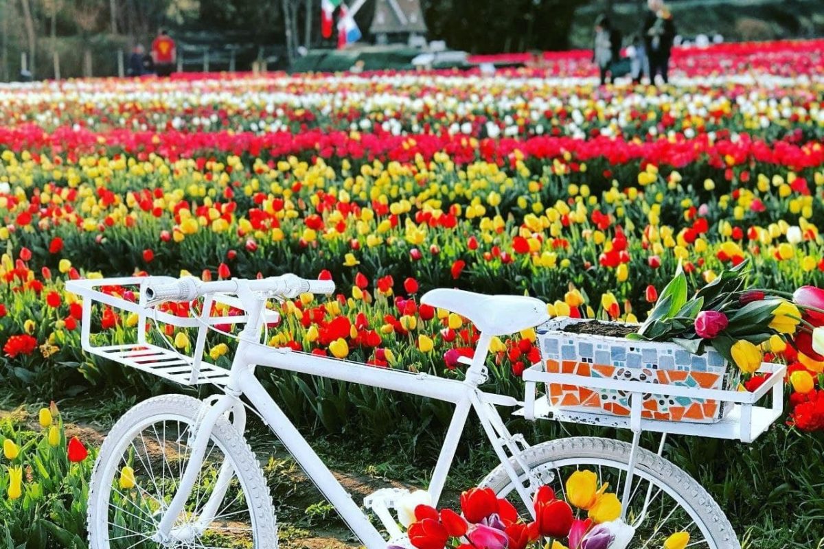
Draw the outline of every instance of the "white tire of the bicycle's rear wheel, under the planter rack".
[[[528,468],[536,468],[546,463],[572,461],[586,466],[589,462],[611,461],[616,468],[624,470],[630,463],[631,444],[620,440],[604,439],[599,437],[579,436],[565,439],[550,440],[525,449],[520,458]],[[514,459],[510,459],[516,472],[522,474],[522,469]],[[695,511],[695,516],[705,525],[709,537],[714,543],[710,549],[741,549],[741,544],[729,523],[727,515],[711,495],[700,486],[695,479],[684,472],[677,465],[667,461],[658,454],[639,448],[636,470],[648,475],[650,482],[654,482],[665,491],[673,491],[685,500],[686,505]],[[522,477],[525,477],[522,475]],[[494,468],[480,483],[481,487],[492,488],[496,494],[505,493],[512,486],[503,466]],[[686,509],[685,505],[681,505]],[[687,509],[689,511],[689,509]],[[632,546],[630,546],[632,547]]]

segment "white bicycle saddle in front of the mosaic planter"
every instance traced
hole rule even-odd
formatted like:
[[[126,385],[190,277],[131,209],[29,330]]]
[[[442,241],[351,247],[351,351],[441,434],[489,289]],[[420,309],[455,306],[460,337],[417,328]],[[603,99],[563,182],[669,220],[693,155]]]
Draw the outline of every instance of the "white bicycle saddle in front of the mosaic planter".
[[[525,295],[484,295],[438,288],[426,292],[420,300],[470,319],[481,333],[490,336],[520,332],[550,319],[543,301]]]

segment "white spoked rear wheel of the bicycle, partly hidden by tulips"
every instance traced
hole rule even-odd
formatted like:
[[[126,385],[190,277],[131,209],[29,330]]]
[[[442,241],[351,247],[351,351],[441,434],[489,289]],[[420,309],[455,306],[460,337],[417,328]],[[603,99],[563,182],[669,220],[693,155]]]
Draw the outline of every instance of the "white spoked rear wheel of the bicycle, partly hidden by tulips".
[[[524,450],[520,458],[541,484],[552,487],[559,497],[565,497],[564,485],[573,472],[589,470],[623,499],[631,449],[630,444],[618,440],[582,436],[536,444]],[[522,473],[514,460],[511,463]],[[522,474],[522,481],[526,480]],[[480,486],[492,488],[499,497],[509,496],[513,504],[520,501],[501,466],[490,472]],[[681,468],[657,454],[638,450],[630,495],[625,522],[636,529],[628,549],[662,547],[667,537],[678,532],[690,534],[688,547],[741,549],[733,527],[712,496]]]

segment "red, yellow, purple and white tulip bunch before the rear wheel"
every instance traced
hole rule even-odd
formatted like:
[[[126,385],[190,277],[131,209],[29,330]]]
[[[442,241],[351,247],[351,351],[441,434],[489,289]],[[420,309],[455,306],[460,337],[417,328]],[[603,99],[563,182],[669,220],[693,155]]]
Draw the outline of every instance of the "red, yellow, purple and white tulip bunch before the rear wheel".
[[[618,497],[606,484],[599,486],[595,472],[573,472],[564,487],[566,500],[550,486],[538,489],[531,522],[490,488],[463,492],[461,514],[435,509],[428,492],[413,492],[400,501],[398,519],[418,549],[625,549],[630,544],[635,529],[620,518]],[[684,549],[689,542],[689,533],[678,532],[663,547]]]

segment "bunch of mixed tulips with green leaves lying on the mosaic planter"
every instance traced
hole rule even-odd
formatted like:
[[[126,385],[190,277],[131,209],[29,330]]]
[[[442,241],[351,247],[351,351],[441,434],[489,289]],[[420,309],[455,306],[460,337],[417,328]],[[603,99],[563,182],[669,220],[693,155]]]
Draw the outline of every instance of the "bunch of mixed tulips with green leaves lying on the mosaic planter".
[[[681,268],[658,296],[635,340],[674,342],[701,354],[714,347],[742,372],[761,367],[765,351],[787,343],[810,361],[824,361],[824,291],[803,286],[795,294],[747,288],[745,260],[687,297]],[[814,347],[818,347],[818,352]]]

